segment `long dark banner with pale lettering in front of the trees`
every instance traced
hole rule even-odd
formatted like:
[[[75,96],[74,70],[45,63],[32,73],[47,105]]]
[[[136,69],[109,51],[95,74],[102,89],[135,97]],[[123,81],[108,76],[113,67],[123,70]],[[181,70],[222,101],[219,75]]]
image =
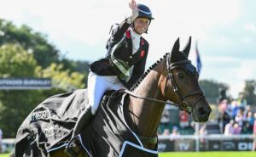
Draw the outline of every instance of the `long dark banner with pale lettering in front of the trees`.
[[[49,78],[0,78],[0,89],[5,90],[28,90],[28,89],[50,89]]]

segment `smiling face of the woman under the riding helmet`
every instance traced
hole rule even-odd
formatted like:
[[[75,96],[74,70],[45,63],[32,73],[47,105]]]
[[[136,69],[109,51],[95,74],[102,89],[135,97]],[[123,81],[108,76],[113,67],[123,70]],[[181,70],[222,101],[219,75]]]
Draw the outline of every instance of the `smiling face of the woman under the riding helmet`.
[[[137,18],[134,20],[134,29],[139,34],[143,34],[148,30],[149,20],[147,18]]]

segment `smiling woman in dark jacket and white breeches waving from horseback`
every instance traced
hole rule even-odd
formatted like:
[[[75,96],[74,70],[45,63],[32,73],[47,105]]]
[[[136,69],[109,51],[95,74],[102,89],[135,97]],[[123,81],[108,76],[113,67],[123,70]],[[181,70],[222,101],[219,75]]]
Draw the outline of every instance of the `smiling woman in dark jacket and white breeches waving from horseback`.
[[[71,141],[77,140],[79,133],[96,115],[102,96],[107,90],[130,88],[143,75],[148,56],[148,42],[142,35],[147,33],[148,25],[154,18],[146,5],[131,0],[129,6],[131,15],[121,24],[111,27],[105,58],[90,64],[87,82],[90,105],[79,116]],[[71,147],[66,150],[67,154],[73,154]]]

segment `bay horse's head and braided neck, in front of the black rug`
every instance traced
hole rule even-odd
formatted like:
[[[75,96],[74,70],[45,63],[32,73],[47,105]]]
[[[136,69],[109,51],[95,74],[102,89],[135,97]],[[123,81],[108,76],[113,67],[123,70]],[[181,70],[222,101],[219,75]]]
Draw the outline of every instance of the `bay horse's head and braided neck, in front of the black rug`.
[[[157,149],[154,139],[166,100],[192,115],[195,122],[206,122],[211,113],[212,109],[199,87],[198,74],[188,59],[190,45],[191,37],[183,51],[180,51],[177,39],[172,52],[166,53],[163,59],[153,64],[137,84],[126,91],[129,93],[129,105],[124,106],[125,121],[131,131],[143,139],[146,149]]]

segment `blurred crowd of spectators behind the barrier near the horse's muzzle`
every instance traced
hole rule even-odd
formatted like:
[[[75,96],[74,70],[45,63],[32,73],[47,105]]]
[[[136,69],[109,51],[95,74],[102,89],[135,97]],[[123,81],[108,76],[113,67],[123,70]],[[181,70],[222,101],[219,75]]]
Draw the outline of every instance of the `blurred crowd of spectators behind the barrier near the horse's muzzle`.
[[[230,99],[219,98],[217,103],[218,114],[214,116],[215,122],[218,126],[218,132],[226,136],[230,135],[239,135],[239,134],[253,134],[253,126],[256,127],[256,112],[255,109],[252,109],[247,100],[243,98],[243,94],[240,93],[237,99],[230,101]],[[162,119],[160,121],[160,127],[162,132],[160,134],[166,134],[167,131],[172,131],[174,126],[177,126],[177,132],[183,131],[184,129],[193,128],[195,131],[195,123],[192,121],[191,117],[184,111],[179,111],[178,115],[178,124],[170,124],[170,108],[166,107],[163,112]],[[207,122],[209,124],[210,122]],[[207,125],[201,125],[201,132],[207,132]],[[255,131],[256,132],[256,131]],[[182,134],[182,133],[181,133]],[[207,132],[209,134],[209,132]],[[210,133],[211,134],[211,133]]]

